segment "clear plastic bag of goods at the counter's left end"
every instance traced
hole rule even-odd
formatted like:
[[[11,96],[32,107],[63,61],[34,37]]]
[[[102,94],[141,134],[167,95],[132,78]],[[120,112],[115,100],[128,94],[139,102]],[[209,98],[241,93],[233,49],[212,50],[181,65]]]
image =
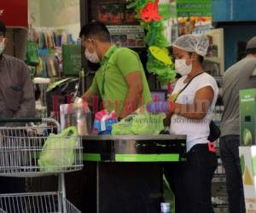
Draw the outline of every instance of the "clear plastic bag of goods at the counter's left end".
[[[62,104],[61,130],[76,126],[80,136],[91,134],[91,112],[87,103]]]

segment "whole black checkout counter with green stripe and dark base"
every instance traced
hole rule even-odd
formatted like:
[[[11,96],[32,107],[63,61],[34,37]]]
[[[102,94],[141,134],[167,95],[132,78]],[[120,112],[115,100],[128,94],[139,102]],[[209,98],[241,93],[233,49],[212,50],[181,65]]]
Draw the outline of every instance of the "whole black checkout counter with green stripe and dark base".
[[[160,213],[163,163],[183,161],[185,135],[88,135],[84,146],[84,210]]]

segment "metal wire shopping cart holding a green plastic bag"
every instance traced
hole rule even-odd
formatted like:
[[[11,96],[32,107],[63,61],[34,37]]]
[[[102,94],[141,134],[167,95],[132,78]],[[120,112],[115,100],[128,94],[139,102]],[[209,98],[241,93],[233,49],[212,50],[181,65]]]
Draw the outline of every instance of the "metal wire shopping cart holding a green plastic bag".
[[[30,122],[39,122],[41,125],[21,125]],[[60,124],[50,118],[2,119],[0,123],[15,123],[10,127],[0,126],[0,176],[58,176],[57,192],[0,194],[0,213],[79,213],[80,211],[66,199],[64,174],[83,168],[80,137],[67,135],[51,138],[54,146],[48,150],[49,155],[58,156],[62,163],[49,166],[44,164],[42,167],[39,159],[45,151],[44,145],[51,133],[60,133]],[[65,140],[75,140],[75,147],[71,149],[60,146]],[[72,160],[68,163],[64,152],[71,153]]]

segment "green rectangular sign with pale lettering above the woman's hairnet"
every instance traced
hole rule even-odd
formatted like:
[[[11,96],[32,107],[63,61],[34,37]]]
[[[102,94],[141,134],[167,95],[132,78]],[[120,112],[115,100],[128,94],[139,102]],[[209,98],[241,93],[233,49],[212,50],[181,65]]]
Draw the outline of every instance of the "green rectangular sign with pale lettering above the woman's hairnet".
[[[212,0],[177,0],[177,17],[212,16]]]

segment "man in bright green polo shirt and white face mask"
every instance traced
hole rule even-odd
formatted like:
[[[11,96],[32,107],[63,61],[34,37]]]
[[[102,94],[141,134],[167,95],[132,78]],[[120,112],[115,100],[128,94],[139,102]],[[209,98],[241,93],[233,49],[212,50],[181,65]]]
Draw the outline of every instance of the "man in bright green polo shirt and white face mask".
[[[101,22],[83,26],[80,37],[87,60],[101,64],[90,89],[83,95],[84,101],[91,103],[95,95],[101,95],[104,108],[114,110],[119,118],[151,101],[147,78],[136,52],[113,45],[108,28]]]

